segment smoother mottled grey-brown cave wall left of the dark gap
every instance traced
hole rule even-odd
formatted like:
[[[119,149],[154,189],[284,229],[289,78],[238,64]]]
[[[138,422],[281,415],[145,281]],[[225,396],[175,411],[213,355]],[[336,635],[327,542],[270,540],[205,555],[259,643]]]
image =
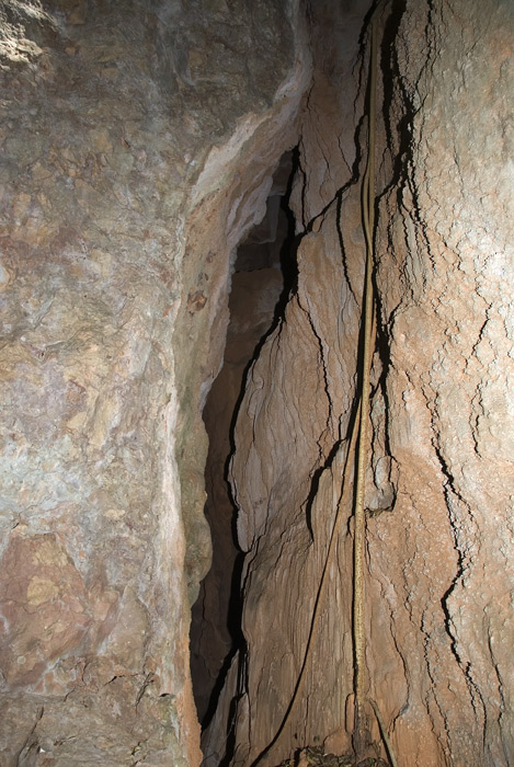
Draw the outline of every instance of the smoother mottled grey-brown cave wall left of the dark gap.
[[[198,765],[201,408],[309,81],[293,0],[0,3],[0,763]]]

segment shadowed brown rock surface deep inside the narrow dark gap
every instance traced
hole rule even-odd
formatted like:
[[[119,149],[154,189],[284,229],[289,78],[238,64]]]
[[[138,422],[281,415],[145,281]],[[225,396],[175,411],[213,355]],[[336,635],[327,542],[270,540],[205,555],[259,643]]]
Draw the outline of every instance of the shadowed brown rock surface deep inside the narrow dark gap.
[[[210,696],[239,632],[238,609],[230,604],[231,596],[237,599],[237,593],[232,595],[232,586],[237,588],[237,584],[232,581],[240,574],[240,569],[235,573],[235,566],[241,556],[230,535],[235,510],[226,479],[231,421],[245,369],[258,343],[272,325],[282,289],[278,268],[237,272],[232,276],[224,366],[204,409],[209,436],[205,514],[213,539],[213,564],[202,582],[191,627],[193,689],[201,721],[208,712]]]

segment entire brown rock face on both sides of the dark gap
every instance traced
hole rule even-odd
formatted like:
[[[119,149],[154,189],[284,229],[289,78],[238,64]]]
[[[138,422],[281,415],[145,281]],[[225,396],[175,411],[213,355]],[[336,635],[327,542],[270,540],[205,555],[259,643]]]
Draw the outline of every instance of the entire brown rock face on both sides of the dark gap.
[[[233,434],[245,648],[204,752],[350,748],[369,4],[0,3],[2,767],[199,765],[202,410],[297,145],[297,285]],[[506,767],[513,9],[393,0],[379,30],[367,694],[400,765]]]

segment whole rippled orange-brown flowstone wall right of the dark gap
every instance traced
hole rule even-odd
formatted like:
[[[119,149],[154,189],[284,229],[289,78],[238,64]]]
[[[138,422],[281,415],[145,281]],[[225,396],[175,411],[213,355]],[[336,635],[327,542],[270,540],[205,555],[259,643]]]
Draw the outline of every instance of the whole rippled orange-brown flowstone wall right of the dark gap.
[[[310,8],[315,75],[292,197],[298,289],[236,425],[248,651],[205,735],[208,765],[227,742],[244,767],[317,743],[351,747],[352,499],[341,485],[364,271],[366,11]],[[366,666],[400,765],[514,756],[513,22],[500,0],[380,11]]]

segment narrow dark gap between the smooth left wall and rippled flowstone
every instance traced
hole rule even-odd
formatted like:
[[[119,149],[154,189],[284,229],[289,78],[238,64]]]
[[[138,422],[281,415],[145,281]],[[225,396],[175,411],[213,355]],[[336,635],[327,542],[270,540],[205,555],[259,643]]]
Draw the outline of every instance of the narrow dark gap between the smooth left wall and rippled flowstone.
[[[240,594],[244,556],[237,543],[227,472],[247,373],[296,288],[295,219],[288,202],[297,162],[297,149],[283,154],[273,175],[266,214],[238,248],[224,364],[203,413],[209,438],[205,515],[213,539],[213,563],[192,609],[191,673],[204,730],[216,711],[232,657],[244,646]]]

